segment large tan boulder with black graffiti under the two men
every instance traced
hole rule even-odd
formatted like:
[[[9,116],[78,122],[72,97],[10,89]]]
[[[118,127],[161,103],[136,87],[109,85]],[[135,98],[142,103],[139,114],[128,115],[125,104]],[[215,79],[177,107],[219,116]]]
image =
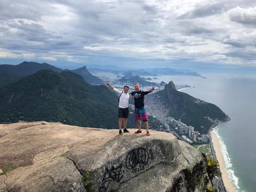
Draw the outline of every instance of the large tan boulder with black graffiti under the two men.
[[[204,190],[205,161],[197,150],[169,133],[129,130],[2,124],[0,169],[18,168],[0,175],[0,191]]]

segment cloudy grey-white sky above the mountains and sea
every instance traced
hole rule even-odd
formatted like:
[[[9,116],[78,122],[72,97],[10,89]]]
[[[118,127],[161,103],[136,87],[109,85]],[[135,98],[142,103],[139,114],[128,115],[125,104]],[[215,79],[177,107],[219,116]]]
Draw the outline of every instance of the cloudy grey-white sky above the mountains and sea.
[[[253,0],[0,0],[0,64],[256,67]]]

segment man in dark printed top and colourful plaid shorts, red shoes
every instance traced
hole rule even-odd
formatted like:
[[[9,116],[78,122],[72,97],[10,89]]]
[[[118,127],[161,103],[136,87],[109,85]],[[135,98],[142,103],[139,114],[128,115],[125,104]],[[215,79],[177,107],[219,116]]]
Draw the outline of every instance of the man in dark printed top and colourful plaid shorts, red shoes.
[[[142,132],[141,131],[141,121],[140,121],[140,119],[142,119],[142,121],[144,122],[145,127],[146,127],[146,135],[150,135],[149,130],[148,130],[149,129],[148,128],[148,114],[146,113],[146,109],[144,107],[144,95],[151,93],[155,88],[152,87],[148,91],[141,91],[139,83],[135,83],[134,88],[135,88],[135,91],[131,92],[131,95],[134,98],[134,105],[135,105],[134,118],[135,118],[135,121],[137,122],[137,126],[139,128],[139,130],[137,130],[135,133]]]

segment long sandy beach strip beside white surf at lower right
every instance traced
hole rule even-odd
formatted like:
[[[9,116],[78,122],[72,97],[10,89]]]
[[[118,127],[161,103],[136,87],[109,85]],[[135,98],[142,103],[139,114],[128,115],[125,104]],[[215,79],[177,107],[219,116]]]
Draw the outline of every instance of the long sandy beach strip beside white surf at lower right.
[[[234,188],[234,185],[231,182],[230,178],[228,177],[228,173],[225,168],[224,158],[221,153],[220,141],[214,132],[210,132],[210,135],[211,135],[211,141],[214,147],[215,155],[219,162],[220,172],[222,173],[222,180],[223,180],[224,186],[227,192],[233,192],[233,191],[235,192],[236,190]]]

